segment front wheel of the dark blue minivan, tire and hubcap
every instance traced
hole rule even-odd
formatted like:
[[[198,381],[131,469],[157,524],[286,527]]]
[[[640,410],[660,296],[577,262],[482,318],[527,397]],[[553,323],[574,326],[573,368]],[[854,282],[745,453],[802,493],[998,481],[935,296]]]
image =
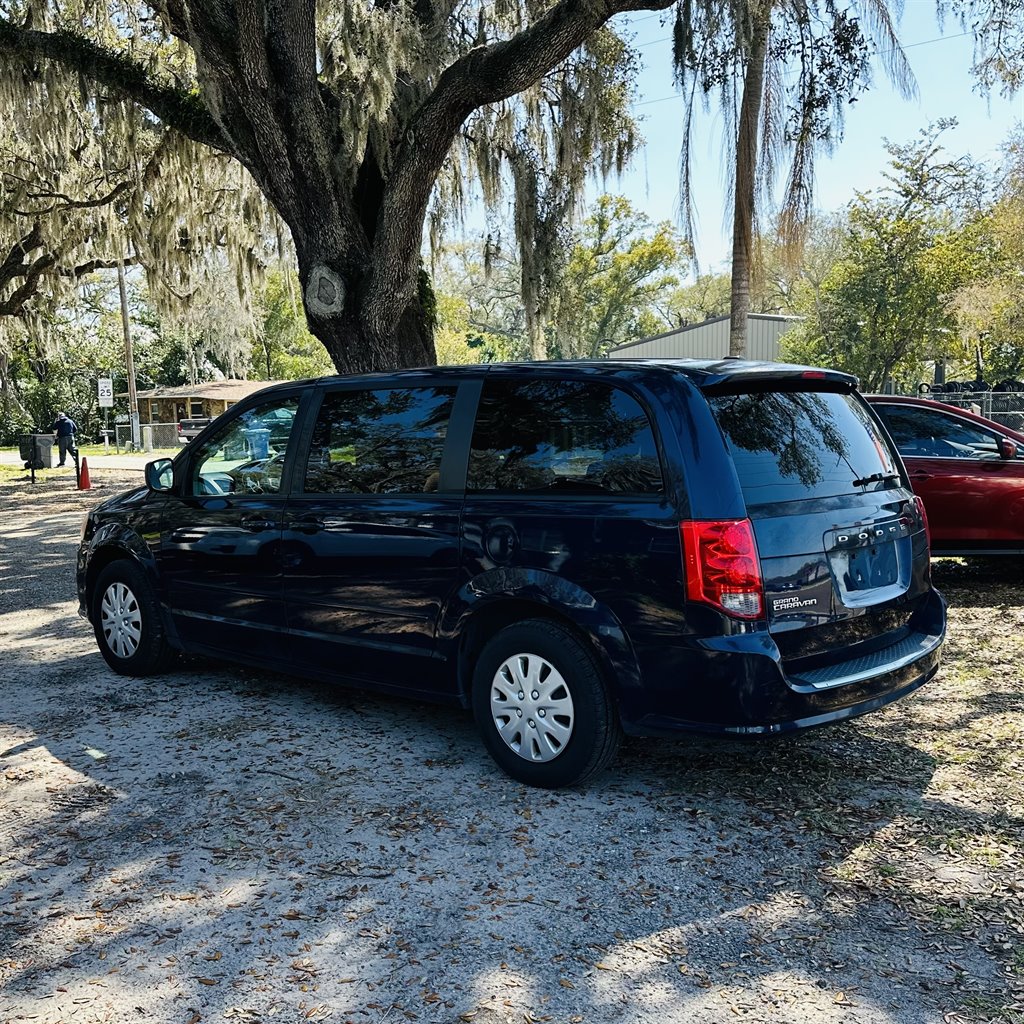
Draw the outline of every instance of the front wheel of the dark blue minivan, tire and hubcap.
[[[119,675],[151,676],[173,659],[153,587],[132,562],[111,562],[99,573],[92,628],[99,652]]]

